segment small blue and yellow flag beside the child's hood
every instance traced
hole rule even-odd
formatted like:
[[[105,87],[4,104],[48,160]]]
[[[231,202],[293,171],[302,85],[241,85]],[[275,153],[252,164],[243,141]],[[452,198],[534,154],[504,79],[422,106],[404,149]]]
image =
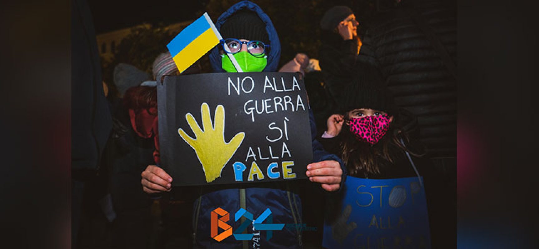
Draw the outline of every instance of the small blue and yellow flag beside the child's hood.
[[[223,39],[219,31],[208,16],[204,13],[195,22],[185,27],[174,39],[172,39],[167,48],[172,55],[180,73],[193,65],[206,52],[210,51],[219,40]]]

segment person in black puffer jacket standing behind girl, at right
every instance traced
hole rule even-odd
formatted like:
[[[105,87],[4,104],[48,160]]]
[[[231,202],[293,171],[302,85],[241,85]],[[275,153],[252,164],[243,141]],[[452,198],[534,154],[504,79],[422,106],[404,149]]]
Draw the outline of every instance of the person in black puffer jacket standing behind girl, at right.
[[[360,57],[381,69],[400,107],[418,117],[418,138],[444,182],[445,246],[456,246],[457,20],[454,1],[398,1],[369,22]],[[452,217],[452,218],[451,218]],[[445,248],[445,247],[444,247]]]

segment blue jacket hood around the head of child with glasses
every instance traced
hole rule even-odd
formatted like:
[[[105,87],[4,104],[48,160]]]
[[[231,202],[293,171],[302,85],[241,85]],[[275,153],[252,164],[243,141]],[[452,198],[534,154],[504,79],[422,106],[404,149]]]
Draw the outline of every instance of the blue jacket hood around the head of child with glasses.
[[[258,14],[260,19],[262,19],[262,22],[266,24],[266,31],[268,33],[269,37],[269,54],[267,54],[267,66],[262,70],[262,72],[277,72],[277,66],[279,64],[279,59],[281,57],[281,42],[279,41],[279,36],[277,35],[277,31],[275,30],[275,27],[273,27],[273,23],[271,22],[271,19],[269,19],[268,15],[260,9],[260,7],[250,1],[241,1],[237,4],[232,5],[228,10],[226,10],[215,23],[215,26],[217,27],[217,30],[220,31],[221,26],[226,22],[226,20],[232,16],[234,13],[236,13],[238,10],[247,9],[254,11]],[[225,70],[223,70],[221,65],[221,56],[219,55],[219,46],[216,46],[212,49],[210,53],[210,63],[211,67],[213,68],[213,72],[216,73],[224,73]]]

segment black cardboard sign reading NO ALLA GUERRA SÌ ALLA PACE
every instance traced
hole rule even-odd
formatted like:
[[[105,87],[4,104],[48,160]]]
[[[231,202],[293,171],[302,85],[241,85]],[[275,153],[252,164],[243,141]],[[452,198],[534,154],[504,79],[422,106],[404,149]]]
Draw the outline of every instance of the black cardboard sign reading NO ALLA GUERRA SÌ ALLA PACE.
[[[306,178],[313,154],[301,74],[167,76],[157,99],[161,166],[173,186]]]

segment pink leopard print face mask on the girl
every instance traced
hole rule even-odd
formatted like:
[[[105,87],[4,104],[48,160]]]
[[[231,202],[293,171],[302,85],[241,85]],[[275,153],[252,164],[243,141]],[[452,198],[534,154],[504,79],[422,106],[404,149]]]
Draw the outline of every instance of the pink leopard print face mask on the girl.
[[[391,120],[384,114],[381,116],[366,116],[363,118],[350,118],[350,132],[358,140],[367,141],[370,144],[378,143],[388,131]]]

